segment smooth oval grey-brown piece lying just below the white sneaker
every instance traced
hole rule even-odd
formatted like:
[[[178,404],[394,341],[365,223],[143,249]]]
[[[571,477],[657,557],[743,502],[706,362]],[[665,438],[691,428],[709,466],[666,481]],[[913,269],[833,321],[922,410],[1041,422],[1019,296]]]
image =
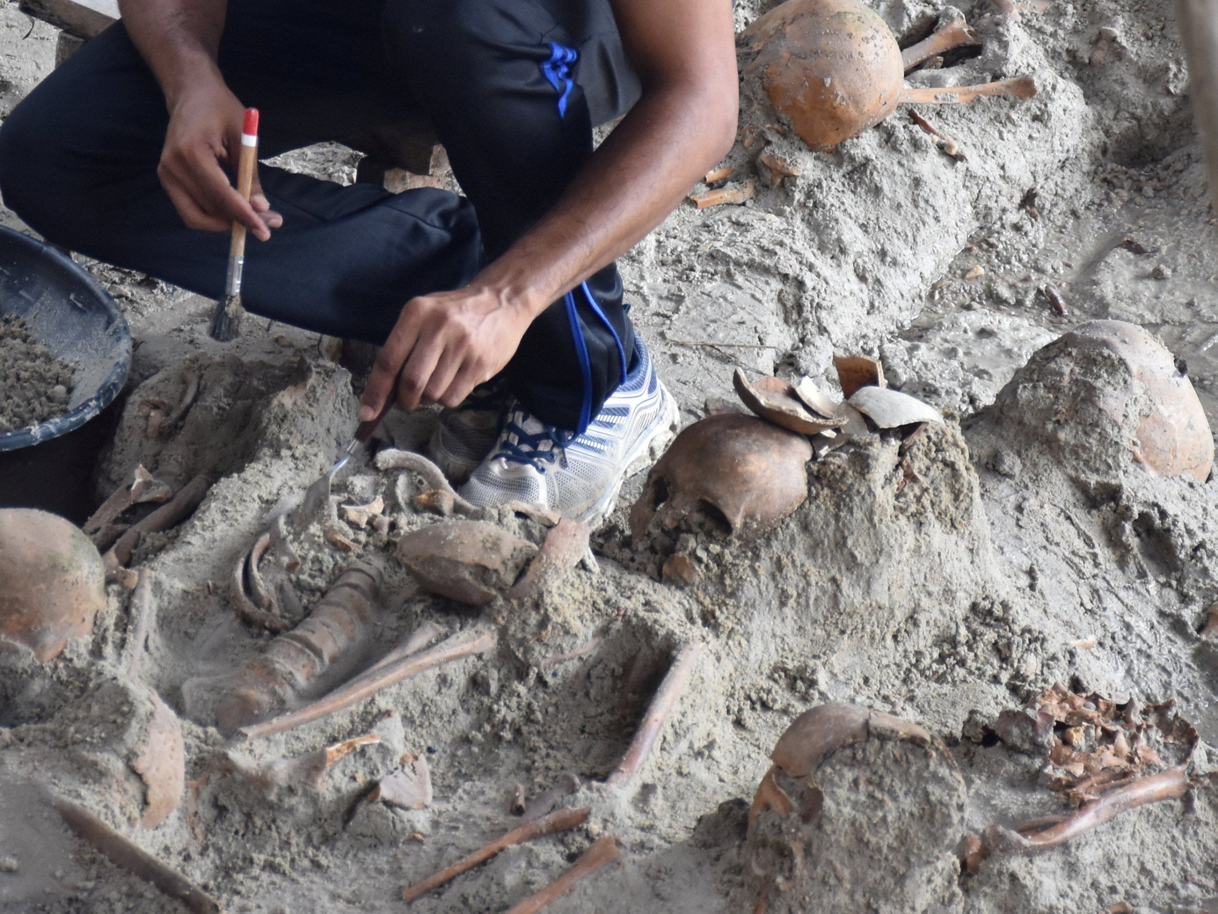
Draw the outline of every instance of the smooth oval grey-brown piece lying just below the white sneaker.
[[[537,547],[482,520],[446,520],[403,536],[397,557],[419,584],[485,606],[510,587]]]

